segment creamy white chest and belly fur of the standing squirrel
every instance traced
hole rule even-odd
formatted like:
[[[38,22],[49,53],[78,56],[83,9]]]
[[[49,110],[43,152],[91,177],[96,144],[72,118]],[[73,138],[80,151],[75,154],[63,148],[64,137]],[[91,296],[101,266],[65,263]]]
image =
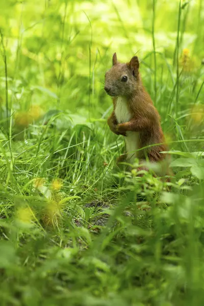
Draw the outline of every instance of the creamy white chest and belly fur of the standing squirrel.
[[[124,97],[118,97],[115,106],[115,116],[118,123],[130,121],[132,114],[127,106],[127,99]],[[139,133],[127,131],[125,137],[125,145],[127,152],[127,162],[133,163],[137,157]]]

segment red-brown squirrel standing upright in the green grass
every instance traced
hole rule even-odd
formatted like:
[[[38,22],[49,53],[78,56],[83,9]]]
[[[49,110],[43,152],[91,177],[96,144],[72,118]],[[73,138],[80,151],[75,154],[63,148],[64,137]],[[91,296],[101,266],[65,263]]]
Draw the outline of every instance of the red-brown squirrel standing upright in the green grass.
[[[166,154],[160,152],[168,148],[160,115],[142,85],[138,57],[134,56],[129,63],[123,64],[117,61],[114,53],[113,66],[105,74],[104,89],[113,97],[114,109],[108,118],[110,130],[116,135],[123,135],[125,139],[126,154],[120,156],[117,162],[133,164],[135,158],[138,158],[138,171],[148,171],[144,166],[146,158],[150,163],[165,161]],[[149,146],[154,144],[159,145]],[[162,172],[170,175],[168,165],[162,168]]]

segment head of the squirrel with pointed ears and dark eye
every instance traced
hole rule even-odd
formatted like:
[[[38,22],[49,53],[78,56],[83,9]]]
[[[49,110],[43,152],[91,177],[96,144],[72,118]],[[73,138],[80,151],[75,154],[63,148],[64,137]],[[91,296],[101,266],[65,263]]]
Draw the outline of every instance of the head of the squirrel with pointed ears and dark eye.
[[[110,96],[130,96],[139,84],[139,61],[134,56],[129,63],[121,64],[113,55],[113,66],[106,72],[104,89]]]

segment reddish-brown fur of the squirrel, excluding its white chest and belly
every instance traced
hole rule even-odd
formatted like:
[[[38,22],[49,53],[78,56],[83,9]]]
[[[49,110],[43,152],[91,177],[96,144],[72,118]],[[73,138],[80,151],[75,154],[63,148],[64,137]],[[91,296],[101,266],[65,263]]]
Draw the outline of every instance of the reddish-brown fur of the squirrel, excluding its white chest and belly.
[[[122,82],[121,78],[126,75],[128,82]],[[121,64],[117,61],[116,54],[113,55],[113,67],[106,73],[105,90],[113,96],[113,107],[115,110],[117,96],[125,96],[127,105],[132,113],[129,122],[118,124],[114,110],[108,118],[110,130],[125,136],[126,131],[139,132],[139,148],[148,145],[162,143],[138,151],[138,158],[146,159],[149,162],[161,162],[166,160],[166,155],[161,151],[168,150],[164,143],[164,134],[160,124],[160,116],[152,103],[152,100],[142,85],[139,73],[139,61],[133,57],[130,63]],[[168,167],[165,167],[165,174],[169,174]]]

